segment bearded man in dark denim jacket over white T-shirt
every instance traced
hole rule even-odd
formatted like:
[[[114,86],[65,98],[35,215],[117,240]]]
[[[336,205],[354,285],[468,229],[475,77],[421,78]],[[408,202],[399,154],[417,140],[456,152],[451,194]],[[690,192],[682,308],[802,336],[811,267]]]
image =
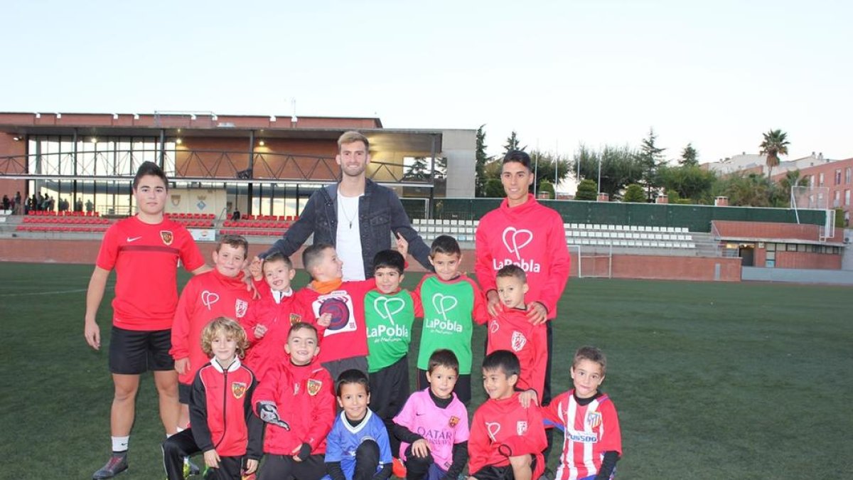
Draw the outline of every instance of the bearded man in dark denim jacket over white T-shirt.
[[[409,253],[415,260],[432,269],[429,247],[409,224],[397,194],[367,179],[368,152],[368,139],[361,133],[341,135],[335,156],[341,171],[340,182],[314,192],[299,220],[259,257],[275,251],[293,255],[313,233],[314,243],[335,246],[339,258],[344,261],[345,280],[363,280],[373,276],[374,255],[391,248],[393,232],[409,242]]]

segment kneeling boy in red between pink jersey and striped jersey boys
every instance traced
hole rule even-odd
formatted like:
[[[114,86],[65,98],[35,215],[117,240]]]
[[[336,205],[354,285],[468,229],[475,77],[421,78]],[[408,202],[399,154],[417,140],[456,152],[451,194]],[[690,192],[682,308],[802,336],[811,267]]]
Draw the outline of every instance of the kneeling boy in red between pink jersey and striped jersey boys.
[[[539,478],[545,471],[545,429],[539,409],[522,407],[515,391],[518,357],[508,350],[486,355],[483,378],[489,400],[471,420],[468,475],[477,480]]]

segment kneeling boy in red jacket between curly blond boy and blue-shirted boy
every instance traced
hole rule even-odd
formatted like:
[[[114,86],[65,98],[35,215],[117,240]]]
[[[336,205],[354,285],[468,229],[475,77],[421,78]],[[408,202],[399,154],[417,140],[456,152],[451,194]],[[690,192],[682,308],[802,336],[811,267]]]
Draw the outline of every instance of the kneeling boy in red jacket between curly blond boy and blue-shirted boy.
[[[320,478],[326,473],[323,458],[334,423],[334,382],[316,360],[316,329],[293,324],[286,348],[289,358],[270,370],[252,398],[255,412],[266,422],[267,458],[259,480]]]

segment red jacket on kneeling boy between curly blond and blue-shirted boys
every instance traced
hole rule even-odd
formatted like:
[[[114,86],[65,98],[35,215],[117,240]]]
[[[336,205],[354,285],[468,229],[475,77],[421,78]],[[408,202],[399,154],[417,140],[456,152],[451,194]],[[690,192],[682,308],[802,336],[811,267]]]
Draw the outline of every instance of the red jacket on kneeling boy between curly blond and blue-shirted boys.
[[[290,425],[288,431],[266,424],[265,454],[292,455],[303,443],[311,446],[312,455],[326,452],[336,403],[332,377],[320,362],[296,366],[289,358],[282,361],[258,384],[252,397],[256,413],[258,401],[275,402],[279,417]]]

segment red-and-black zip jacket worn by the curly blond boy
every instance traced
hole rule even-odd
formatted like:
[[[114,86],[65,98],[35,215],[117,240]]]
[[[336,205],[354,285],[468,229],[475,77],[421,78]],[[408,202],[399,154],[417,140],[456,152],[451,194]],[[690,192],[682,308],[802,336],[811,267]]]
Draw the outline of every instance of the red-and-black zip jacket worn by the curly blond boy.
[[[234,360],[228,371],[211,360],[196,373],[189,397],[189,424],[195,444],[219,456],[261,458],[264,422],[252,413],[257,385],[251,370]]]

